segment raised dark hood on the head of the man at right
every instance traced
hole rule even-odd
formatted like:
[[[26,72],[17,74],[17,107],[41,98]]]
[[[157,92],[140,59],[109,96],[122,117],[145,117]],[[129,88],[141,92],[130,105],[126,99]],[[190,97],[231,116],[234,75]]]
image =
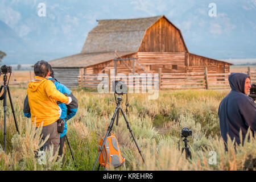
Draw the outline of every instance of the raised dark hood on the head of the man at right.
[[[245,93],[245,80],[250,78],[245,73],[231,73],[229,75],[229,85],[232,90]]]

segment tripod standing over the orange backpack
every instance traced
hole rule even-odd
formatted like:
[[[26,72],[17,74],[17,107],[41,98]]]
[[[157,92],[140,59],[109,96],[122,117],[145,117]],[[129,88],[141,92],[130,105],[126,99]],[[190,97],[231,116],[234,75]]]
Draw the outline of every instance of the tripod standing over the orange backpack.
[[[127,97],[127,96],[126,96],[126,97]],[[107,131],[107,133],[106,133],[106,135],[105,135],[105,138],[104,138],[104,140],[103,140],[103,143],[102,143],[102,145],[101,145],[101,147],[100,147],[100,151],[98,152],[98,157],[97,157],[97,159],[96,159],[96,162],[94,163],[93,171],[94,171],[94,168],[96,167],[96,164],[97,164],[97,162],[98,162],[98,158],[100,158],[100,154],[101,154],[102,148],[104,147],[104,144],[105,144],[105,142],[106,142],[106,138],[110,136],[110,132],[111,132],[112,129],[113,129],[113,125],[114,125],[114,121],[115,121],[115,117],[116,117],[116,116],[117,116],[117,125],[118,125],[119,110],[121,110],[121,113],[122,113],[123,118],[125,119],[125,122],[126,122],[126,125],[127,125],[127,129],[129,129],[129,131],[130,131],[130,133],[131,133],[131,137],[133,137],[133,140],[134,140],[134,142],[135,142],[135,144],[136,144],[136,146],[137,146],[137,148],[138,148],[139,154],[140,154],[141,157],[142,157],[143,163],[145,163],[144,158],[143,158],[143,156],[142,156],[142,154],[141,154],[141,150],[139,149],[139,146],[138,146],[138,144],[137,144],[137,142],[136,142],[136,140],[135,140],[133,131],[131,130],[130,125],[129,125],[129,122],[127,121],[127,118],[126,118],[126,115],[125,115],[125,111],[123,111],[122,107],[120,106],[121,101],[122,101],[122,97],[118,96],[118,97],[117,97],[117,102],[116,102],[117,107],[115,107],[113,117],[111,118],[111,122],[110,122],[110,125],[109,125],[109,127],[108,127],[108,131]],[[98,166],[98,169],[99,169],[99,168],[100,168],[100,164],[99,164],[99,166]]]

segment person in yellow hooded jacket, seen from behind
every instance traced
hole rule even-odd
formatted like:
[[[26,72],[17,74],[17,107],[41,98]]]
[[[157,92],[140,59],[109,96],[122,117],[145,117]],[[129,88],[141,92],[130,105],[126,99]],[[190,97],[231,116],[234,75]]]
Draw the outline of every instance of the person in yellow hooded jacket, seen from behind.
[[[34,73],[35,77],[28,83],[27,88],[31,121],[36,123],[36,127],[43,126],[43,139],[49,135],[41,150],[46,150],[50,145],[53,145],[53,154],[55,154],[60,143],[56,122],[60,117],[60,108],[56,101],[68,105],[72,99],[59,92],[53,82],[47,79],[51,73],[47,61],[38,61],[34,65]]]

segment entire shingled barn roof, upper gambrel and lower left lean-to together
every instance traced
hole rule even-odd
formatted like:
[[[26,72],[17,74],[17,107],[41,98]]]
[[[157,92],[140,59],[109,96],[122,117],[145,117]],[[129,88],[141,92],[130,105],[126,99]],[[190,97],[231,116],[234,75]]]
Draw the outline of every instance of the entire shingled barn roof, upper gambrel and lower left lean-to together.
[[[165,18],[179,31],[185,49],[189,52],[179,28],[164,15],[135,19],[102,19],[97,20],[98,25],[88,33],[81,53],[51,60],[49,63],[52,67],[84,68],[113,60],[115,51],[120,57],[138,52],[147,29],[160,18]]]

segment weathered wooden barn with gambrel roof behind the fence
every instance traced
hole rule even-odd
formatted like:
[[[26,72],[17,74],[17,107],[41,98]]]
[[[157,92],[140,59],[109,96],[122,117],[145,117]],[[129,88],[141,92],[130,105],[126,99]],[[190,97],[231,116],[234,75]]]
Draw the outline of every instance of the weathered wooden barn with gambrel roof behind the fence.
[[[183,36],[166,16],[97,20],[76,55],[51,60],[55,77],[78,86],[81,74],[105,73],[229,73],[230,63],[188,51]],[[122,59],[122,60],[121,60]]]

